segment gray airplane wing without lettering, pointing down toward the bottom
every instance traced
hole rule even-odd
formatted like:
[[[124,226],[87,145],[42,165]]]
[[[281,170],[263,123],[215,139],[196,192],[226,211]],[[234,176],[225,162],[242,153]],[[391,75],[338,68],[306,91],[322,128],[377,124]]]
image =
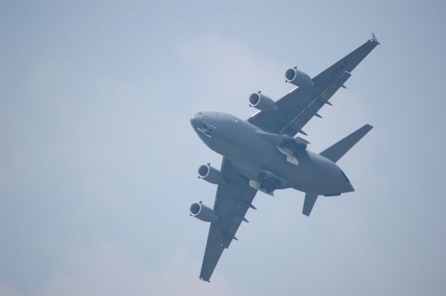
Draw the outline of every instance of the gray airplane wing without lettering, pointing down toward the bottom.
[[[208,242],[204,251],[200,279],[209,281],[223,250],[229,247],[249,208],[254,208],[252,200],[257,190],[249,186],[249,180],[241,176],[226,157],[222,169],[226,183],[218,185],[214,212],[218,220],[209,227]]]

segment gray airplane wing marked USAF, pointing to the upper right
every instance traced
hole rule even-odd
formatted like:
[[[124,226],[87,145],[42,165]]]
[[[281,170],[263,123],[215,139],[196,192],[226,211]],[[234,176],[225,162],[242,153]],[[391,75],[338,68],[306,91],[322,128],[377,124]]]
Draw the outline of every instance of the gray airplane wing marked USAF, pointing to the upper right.
[[[349,77],[351,71],[369,54],[379,42],[372,38],[325,69],[312,79],[314,85],[295,88],[276,102],[277,111],[259,111],[248,119],[249,123],[262,130],[275,134],[288,134],[294,137],[313,117],[321,117],[317,112],[337,92]],[[305,134],[306,135],[306,134]]]

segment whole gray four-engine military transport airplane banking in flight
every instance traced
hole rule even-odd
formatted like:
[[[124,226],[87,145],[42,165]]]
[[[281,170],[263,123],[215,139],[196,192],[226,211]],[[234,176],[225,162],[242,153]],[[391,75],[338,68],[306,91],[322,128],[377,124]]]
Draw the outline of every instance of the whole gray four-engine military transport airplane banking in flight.
[[[199,112],[190,123],[206,146],[223,156],[220,171],[210,164],[199,166],[198,177],[217,185],[213,208],[192,203],[190,216],[210,222],[199,279],[210,281],[224,249],[260,191],[274,196],[276,189],[305,192],[302,214],[309,216],[318,196],[339,196],[355,189],[336,162],[371,129],[364,125],[341,141],[313,153],[300,133],[329,99],[351,77],[352,70],[380,43],[371,39],[314,78],[297,67],[285,72],[285,81],[296,86],[275,102],[261,91],[249,95],[249,106],[259,109],[243,120],[221,112]]]

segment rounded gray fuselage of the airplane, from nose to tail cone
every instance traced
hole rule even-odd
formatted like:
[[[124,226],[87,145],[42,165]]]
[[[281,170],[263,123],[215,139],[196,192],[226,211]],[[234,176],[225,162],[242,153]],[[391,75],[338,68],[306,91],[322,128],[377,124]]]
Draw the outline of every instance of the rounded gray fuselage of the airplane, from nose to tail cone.
[[[199,112],[190,122],[206,146],[227,157],[250,180],[255,180],[260,171],[268,171],[286,181],[278,189],[291,187],[325,196],[354,191],[348,178],[330,159],[307,150],[307,157],[299,159],[297,165],[287,162],[277,143],[266,137],[268,133],[246,120],[220,112]],[[205,127],[211,127],[210,132],[206,133]]]

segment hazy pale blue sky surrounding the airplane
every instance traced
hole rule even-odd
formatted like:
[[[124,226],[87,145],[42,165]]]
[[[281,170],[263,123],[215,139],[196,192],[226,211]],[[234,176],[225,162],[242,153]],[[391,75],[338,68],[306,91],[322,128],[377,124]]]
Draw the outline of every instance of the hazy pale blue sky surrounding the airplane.
[[[262,2],[262,3],[261,3]],[[0,296],[445,295],[445,1],[1,1]],[[381,45],[305,127],[356,192],[259,193],[199,281],[221,156],[197,111],[248,118],[287,68]]]

